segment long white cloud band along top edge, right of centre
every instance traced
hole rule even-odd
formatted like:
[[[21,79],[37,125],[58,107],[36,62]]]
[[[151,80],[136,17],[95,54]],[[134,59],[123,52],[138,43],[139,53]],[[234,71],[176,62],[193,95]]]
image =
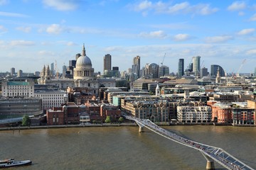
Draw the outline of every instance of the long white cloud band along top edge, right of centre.
[[[170,4],[158,1],[153,3],[151,1],[143,1],[140,4],[133,5],[134,11],[145,11],[152,10],[156,13],[169,13],[169,14],[178,14],[178,13],[191,13],[193,15],[209,15],[211,13],[215,13],[218,11],[218,8],[211,8],[209,4],[196,4],[191,5],[187,1],[178,3],[178,4]]]

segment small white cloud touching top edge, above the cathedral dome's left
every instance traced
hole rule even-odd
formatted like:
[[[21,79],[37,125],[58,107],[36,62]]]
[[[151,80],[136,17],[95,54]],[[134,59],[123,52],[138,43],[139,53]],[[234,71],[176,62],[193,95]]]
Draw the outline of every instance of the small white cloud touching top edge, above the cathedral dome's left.
[[[43,4],[58,11],[73,11],[78,8],[77,1],[75,0],[43,0]]]

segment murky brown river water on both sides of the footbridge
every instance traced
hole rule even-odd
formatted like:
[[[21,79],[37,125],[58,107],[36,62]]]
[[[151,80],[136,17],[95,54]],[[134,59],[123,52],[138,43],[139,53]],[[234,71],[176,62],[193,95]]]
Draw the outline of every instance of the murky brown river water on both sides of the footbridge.
[[[256,169],[256,128],[163,127],[190,140],[221,147]],[[0,159],[31,159],[13,169],[206,169],[203,155],[138,127],[85,127],[0,131]],[[224,169],[215,163],[216,169]]]

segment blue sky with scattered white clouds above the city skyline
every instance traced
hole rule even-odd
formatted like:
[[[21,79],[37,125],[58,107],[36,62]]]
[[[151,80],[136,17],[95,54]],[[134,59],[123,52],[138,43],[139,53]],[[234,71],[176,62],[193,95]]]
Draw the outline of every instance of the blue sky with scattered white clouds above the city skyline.
[[[201,67],[254,73],[256,1],[0,0],[0,72],[36,72],[82,53],[95,72],[103,57],[126,71],[139,55],[147,63],[178,70],[194,56]]]

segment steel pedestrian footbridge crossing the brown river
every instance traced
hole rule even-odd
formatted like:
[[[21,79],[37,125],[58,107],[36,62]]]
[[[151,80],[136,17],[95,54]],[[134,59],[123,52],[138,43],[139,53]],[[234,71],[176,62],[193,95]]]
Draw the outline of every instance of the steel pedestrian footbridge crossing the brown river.
[[[186,147],[191,147],[193,149],[198,150],[203,154],[203,157],[206,158],[206,169],[214,169],[213,161],[217,162],[218,164],[224,166],[226,169],[234,169],[234,170],[247,170],[252,168],[247,164],[241,162],[239,159],[233,157],[225,150],[221,149],[220,147],[212,147],[210,145],[205,145],[199,142],[195,142],[193,140],[188,140],[186,137],[181,137],[177,135],[175,132],[171,132],[169,130],[165,130],[164,128],[159,127],[158,125],[151,122],[149,119],[140,119],[134,118],[131,115],[122,114],[124,118],[128,120],[134,120],[137,125],[139,125],[139,132],[144,132],[144,127],[166,137],[169,140],[177,142],[181,145],[185,145]]]

